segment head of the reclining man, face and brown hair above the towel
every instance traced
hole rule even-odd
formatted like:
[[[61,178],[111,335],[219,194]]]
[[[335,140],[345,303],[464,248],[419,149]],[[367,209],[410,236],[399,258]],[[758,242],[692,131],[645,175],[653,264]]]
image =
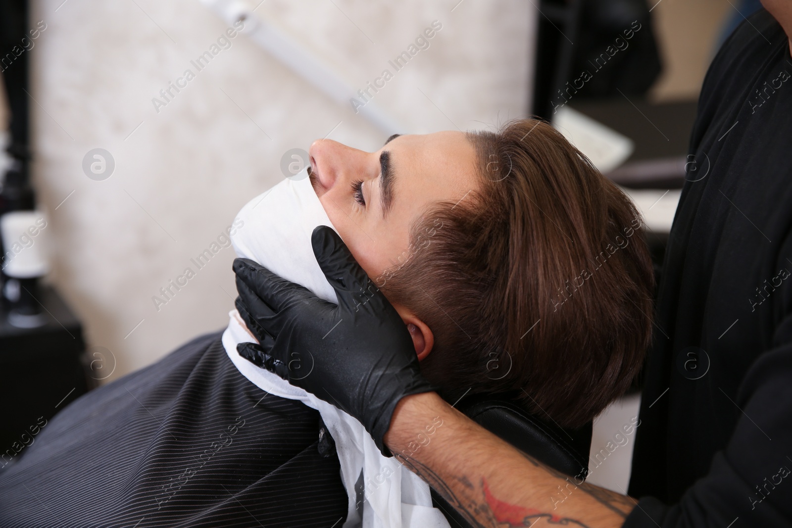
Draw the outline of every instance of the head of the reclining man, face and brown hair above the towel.
[[[651,325],[642,221],[558,131],[518,120],[310,156],[333,226],[445,399],[514,391],[578,427],[624,393]]]

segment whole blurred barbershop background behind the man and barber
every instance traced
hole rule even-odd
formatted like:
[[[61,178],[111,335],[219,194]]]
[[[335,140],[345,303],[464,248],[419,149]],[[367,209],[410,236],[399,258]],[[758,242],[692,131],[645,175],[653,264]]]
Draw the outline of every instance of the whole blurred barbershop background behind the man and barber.
[[[18,269],[2,279],[0,451],[30,416],[227,325],[222,235],[314,139],[376,150],[392,132],[552,120],[634,197],[660,273],[706,68],[756,7],[4,0],[0,235]],[[628,396],[600,417],[592,456],[637,413]],[[592,481],[626,488],[630,451]]]

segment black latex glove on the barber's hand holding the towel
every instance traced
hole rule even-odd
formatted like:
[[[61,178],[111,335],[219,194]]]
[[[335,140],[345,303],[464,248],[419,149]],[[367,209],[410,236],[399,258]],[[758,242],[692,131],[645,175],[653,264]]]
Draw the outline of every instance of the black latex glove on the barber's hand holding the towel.
[[[260,345],[242,357],[354,416],[379,450],[402,397],[434,390],[421,375],[413,340],[390,302],[335,231],[311,237],[338,305],[248,259],[234,260],[236,306]]]

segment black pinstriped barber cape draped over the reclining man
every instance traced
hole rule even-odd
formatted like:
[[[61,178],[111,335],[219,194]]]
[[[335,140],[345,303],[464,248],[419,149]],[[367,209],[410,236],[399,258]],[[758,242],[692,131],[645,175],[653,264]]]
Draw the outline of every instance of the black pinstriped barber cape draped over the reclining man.
[[[341,526],[347,494],[320,427],[204,336],[40,427],[0,469],[0,526]]]

